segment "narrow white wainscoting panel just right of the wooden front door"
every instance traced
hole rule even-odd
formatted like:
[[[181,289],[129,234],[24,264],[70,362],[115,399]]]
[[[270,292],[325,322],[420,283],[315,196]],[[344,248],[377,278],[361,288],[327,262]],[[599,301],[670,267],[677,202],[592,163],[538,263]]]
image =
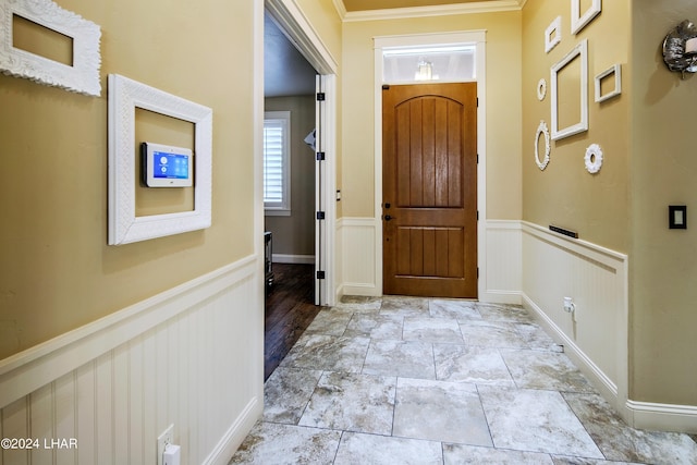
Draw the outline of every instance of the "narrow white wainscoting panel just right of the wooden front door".
[[[485,231],[484,257],[479,257],[479,301],[519,305],[523,303],[521,222],[487,220]]]

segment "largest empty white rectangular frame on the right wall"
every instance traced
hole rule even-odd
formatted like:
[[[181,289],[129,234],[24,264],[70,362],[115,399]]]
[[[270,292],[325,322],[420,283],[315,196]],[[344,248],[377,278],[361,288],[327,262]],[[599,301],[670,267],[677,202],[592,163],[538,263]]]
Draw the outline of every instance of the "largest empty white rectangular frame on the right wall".
[[[566,125],[565,127],[560,127],[560,103],[564,106],[574,105],[573,101],[560,101],[566,98],[573,99],[573,96],[567,96],[566,89],[562,88],[560,90],[560,76],[562,73],[567,73],[565,69],[570,63],[575,60],[579,60],[580,66],[578,66],[579,75],[572,76],[572,79],[578,84],[578,107],[579,114],[575,119],[576,122]],[[552,110],[552,140],[558,140],[564,137],[568,137],[574,134],[582,133],[584,131],[588,131],[588,40],[583,40],[576,47],[573,48],[564,58],[561,59],[557,64],[554,64],[551,69],[551,110]],[[560,91],[563,94],[560,96]]]

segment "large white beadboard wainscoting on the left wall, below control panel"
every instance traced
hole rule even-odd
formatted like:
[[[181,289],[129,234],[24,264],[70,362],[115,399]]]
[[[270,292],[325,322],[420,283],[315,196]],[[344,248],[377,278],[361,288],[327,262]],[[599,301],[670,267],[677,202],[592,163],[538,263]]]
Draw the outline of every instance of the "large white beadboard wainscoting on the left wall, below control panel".
[[[264,291],[249,257],[0,362],[1,464],[227,464],[261,414]],[[45,440],[77,449],[44,449]]]

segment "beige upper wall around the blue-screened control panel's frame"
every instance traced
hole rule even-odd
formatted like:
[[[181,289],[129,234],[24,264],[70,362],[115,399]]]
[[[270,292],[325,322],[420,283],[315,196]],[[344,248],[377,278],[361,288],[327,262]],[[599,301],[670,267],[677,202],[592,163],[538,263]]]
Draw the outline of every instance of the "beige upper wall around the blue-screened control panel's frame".
[[[0,358],[254,253],[253,3],[61,7],[101,26],[102,96],[0,75]],[[211,228],[107,245],[109,73],[212,108]]]

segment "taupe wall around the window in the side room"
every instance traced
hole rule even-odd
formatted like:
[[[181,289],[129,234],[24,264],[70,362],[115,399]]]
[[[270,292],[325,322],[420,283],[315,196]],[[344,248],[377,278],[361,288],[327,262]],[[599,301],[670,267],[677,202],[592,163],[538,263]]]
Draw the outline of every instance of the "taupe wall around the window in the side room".
[[[291,112],[291,216],[266,217],[273,254],[315,255],[315,152],[305,144],[315,129],[315,96],[267,98],[266,111]]]

